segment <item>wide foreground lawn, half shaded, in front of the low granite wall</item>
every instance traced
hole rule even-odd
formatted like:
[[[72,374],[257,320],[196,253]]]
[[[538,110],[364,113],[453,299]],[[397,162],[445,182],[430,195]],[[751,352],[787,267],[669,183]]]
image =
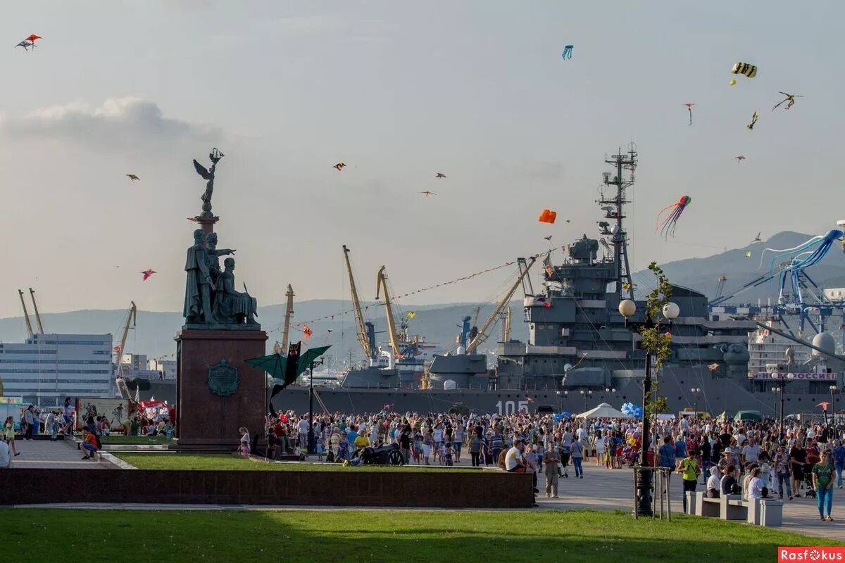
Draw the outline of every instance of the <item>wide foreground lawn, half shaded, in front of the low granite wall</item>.
[[[713,518],[594,511],[177,512],[0,509],[3,561],[755,561],[837,545]],[[841,544],[840,544],[841,545]]]

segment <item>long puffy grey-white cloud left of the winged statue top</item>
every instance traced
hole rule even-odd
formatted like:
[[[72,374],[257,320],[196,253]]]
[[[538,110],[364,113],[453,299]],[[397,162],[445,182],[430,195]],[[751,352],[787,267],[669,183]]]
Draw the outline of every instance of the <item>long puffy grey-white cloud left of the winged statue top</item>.
[[[217,127],[166,117],[155,102],[134,97],[109,98],[100,106],[74,102],[21,117],[3,116],[0,133],[96,144],[215,140],[221,135]]]

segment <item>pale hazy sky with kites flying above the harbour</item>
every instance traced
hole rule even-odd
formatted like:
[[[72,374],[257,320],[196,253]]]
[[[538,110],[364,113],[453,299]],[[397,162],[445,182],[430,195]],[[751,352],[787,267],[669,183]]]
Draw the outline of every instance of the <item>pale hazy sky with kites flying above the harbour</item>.
[[[797,6],[9,3],[0,317],[20,314],[28,287],[41,311],[180,310],[204,190],[191,160],[208,165],[211,147],[226,154],[215,230],[259,305],[283,302],[286,284],[297,300],[346,297],[344,244],[372,299],[381,265],[406,293],[542,252],[546,235],[596,236],[603,161],[632,140],[633,269],[757,231],[824,233],[845,219],[845,4]],[[13,48],[32,33],[38,48]],[[806,97],[772,112],[778,90]],[[657,211],[682,195],[692,203],[664,241]],[[543,208],[555,225],[537,222]],[[416,302],[492,300],[515,273]]]

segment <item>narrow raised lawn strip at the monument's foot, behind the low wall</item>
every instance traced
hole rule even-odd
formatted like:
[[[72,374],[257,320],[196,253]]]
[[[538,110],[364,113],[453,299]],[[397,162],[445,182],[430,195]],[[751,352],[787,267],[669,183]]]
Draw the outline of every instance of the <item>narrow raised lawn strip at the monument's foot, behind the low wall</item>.
[[[437,468],[424,465],[366,465],[343,467],[339,463],[261,463],[232,453],[130,453],[112,452],[124,462],[139,469],[223,469],[235,471],[447,471],[471,473],[482,471],[473,468]],[[312,456],[316,462],[317,457]]]

